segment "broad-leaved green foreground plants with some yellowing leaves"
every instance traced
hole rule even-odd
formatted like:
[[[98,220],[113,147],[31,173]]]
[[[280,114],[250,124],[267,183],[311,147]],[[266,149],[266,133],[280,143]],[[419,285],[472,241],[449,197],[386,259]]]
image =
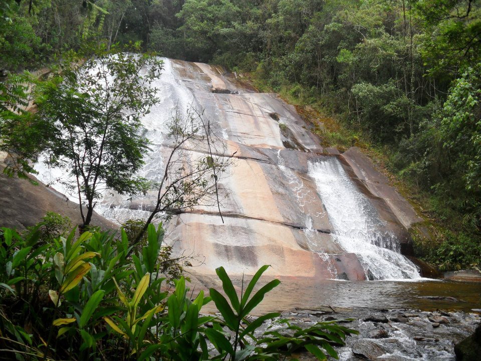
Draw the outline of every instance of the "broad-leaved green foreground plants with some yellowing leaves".
[[[194,297],[161,225],[149,225],[140,244],[123,229],[76,238],[69,226],[48,214],[23,234],[0,229],[0,359],[278,360],[303,350],[326,359],[357,333],[334,321],[301,329],[278,312],[249,317],[280,283],[256,286],[268,266],[240,297],[216,270],[230,305],[213,288]],[[222,317],[201,313],[211,300]]]

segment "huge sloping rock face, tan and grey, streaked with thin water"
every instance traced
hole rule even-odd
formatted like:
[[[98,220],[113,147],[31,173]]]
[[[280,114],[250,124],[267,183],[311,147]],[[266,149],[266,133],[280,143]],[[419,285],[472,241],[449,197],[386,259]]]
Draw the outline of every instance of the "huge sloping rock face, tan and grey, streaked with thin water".
[[[344,154],[336,149],[324,151],[293,106],[275,94],[256,92],[221,67],[164,62],[165,70],[154,84],[160,89],[161,102],[143,121],[154,151],[141,175],[158,179],[162,154],[168,151],[165,124],[173,113],[185,112],[189,106],[211,119],[214,132],[236,158],[231,176],[220,185],[230,191],[222,202],[224,223],[215,209],[198,207],[174,216],[167,225],[168,238],[179,253],[202,257],[203,264],[194,272],[211,275],[222,265],[230,273],[254,274],[260,266],[271,264],[269,272],[276,276],[348,280],[418,276],[407,259],[401,261],[412,269],[405,271],[406,266],[398,264],[402,263],[398,252],[409,250],[406,229],[418,218],[358,149]],[[345,185],[339,192],[353,192],[356,202],[349,212],[353,224],[361,223],[356,229],[341,232],[339,225],[350,224],[346,222],[349,213],[327,211],[325,197],[337,196],[320,191],[330,178],[324,179],[322,171],[316,170],[319,162],[333,163],[340,173]],[[345,200],[349,197],[344,195]],[[141,218],[148,215],[152,199],[147,195],[131,202],[113,196],[104,200],[98,212],[116,222]],[[328,201],[333,209],[335,202]],[[357,213],[366,214],[358,217]],[[369,227],[376,232],[364,236],[363,230]],[[350,246],[352,240],[356,247]],[[384,276],[373,268],[379,263],[376,257],[402,270]]]

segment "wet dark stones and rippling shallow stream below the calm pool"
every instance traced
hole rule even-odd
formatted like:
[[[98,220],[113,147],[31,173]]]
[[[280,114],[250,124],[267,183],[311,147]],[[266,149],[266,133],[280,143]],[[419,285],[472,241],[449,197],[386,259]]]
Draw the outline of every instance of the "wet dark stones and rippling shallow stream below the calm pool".
[[[476,339],[481,345],[481,320],[478,314],[465,312],[447,312],[452,320],[449,324],[441,324],[433,328],[428,317],[434,312],[420,310],[382,310],[372,312],[369,310],[344,310],[342,312],[327,312],[328,307],[322,308],[317,314],[303,314],[284,312],[282,317],[299,325],[311,325],[315,322],[326,320],[327,317],[336,319],[354,318],[354,321],[343,324],[356,329],[359,335],[346,338],[346,345],[335,347],[341,361],[454,361],[455,345],[466,337]],[[323,313],[323,314],[321,314]],[[373,314],[376,317],[373,317]],[[390,319],[403,314],[408,321],[393,322]],[[382,316],[382,317],[381,317]],[[366,321],[366,319],[388,319],[387,323]],[[477,327],[477,329],[476,329]],[[473,333],[476,329],[477,333]],[[472,336],[471,336],[472,334]],[[456,350],[463,348],[464,344],[456,346]],[[467,347],[467,346],[464,346]],[[457,354],[457,353],[456,353]],[[477,353],[476,357],[478,356]],[[300,359],[314,360],[312,356],[302,354]],[[334,358],[328,358],[334,359]],[[461,358],[460,358],[461,359]],[[479,358],[465,358],[465,360],[478,360]],[[464,358],[462,358],[464,360]]]

